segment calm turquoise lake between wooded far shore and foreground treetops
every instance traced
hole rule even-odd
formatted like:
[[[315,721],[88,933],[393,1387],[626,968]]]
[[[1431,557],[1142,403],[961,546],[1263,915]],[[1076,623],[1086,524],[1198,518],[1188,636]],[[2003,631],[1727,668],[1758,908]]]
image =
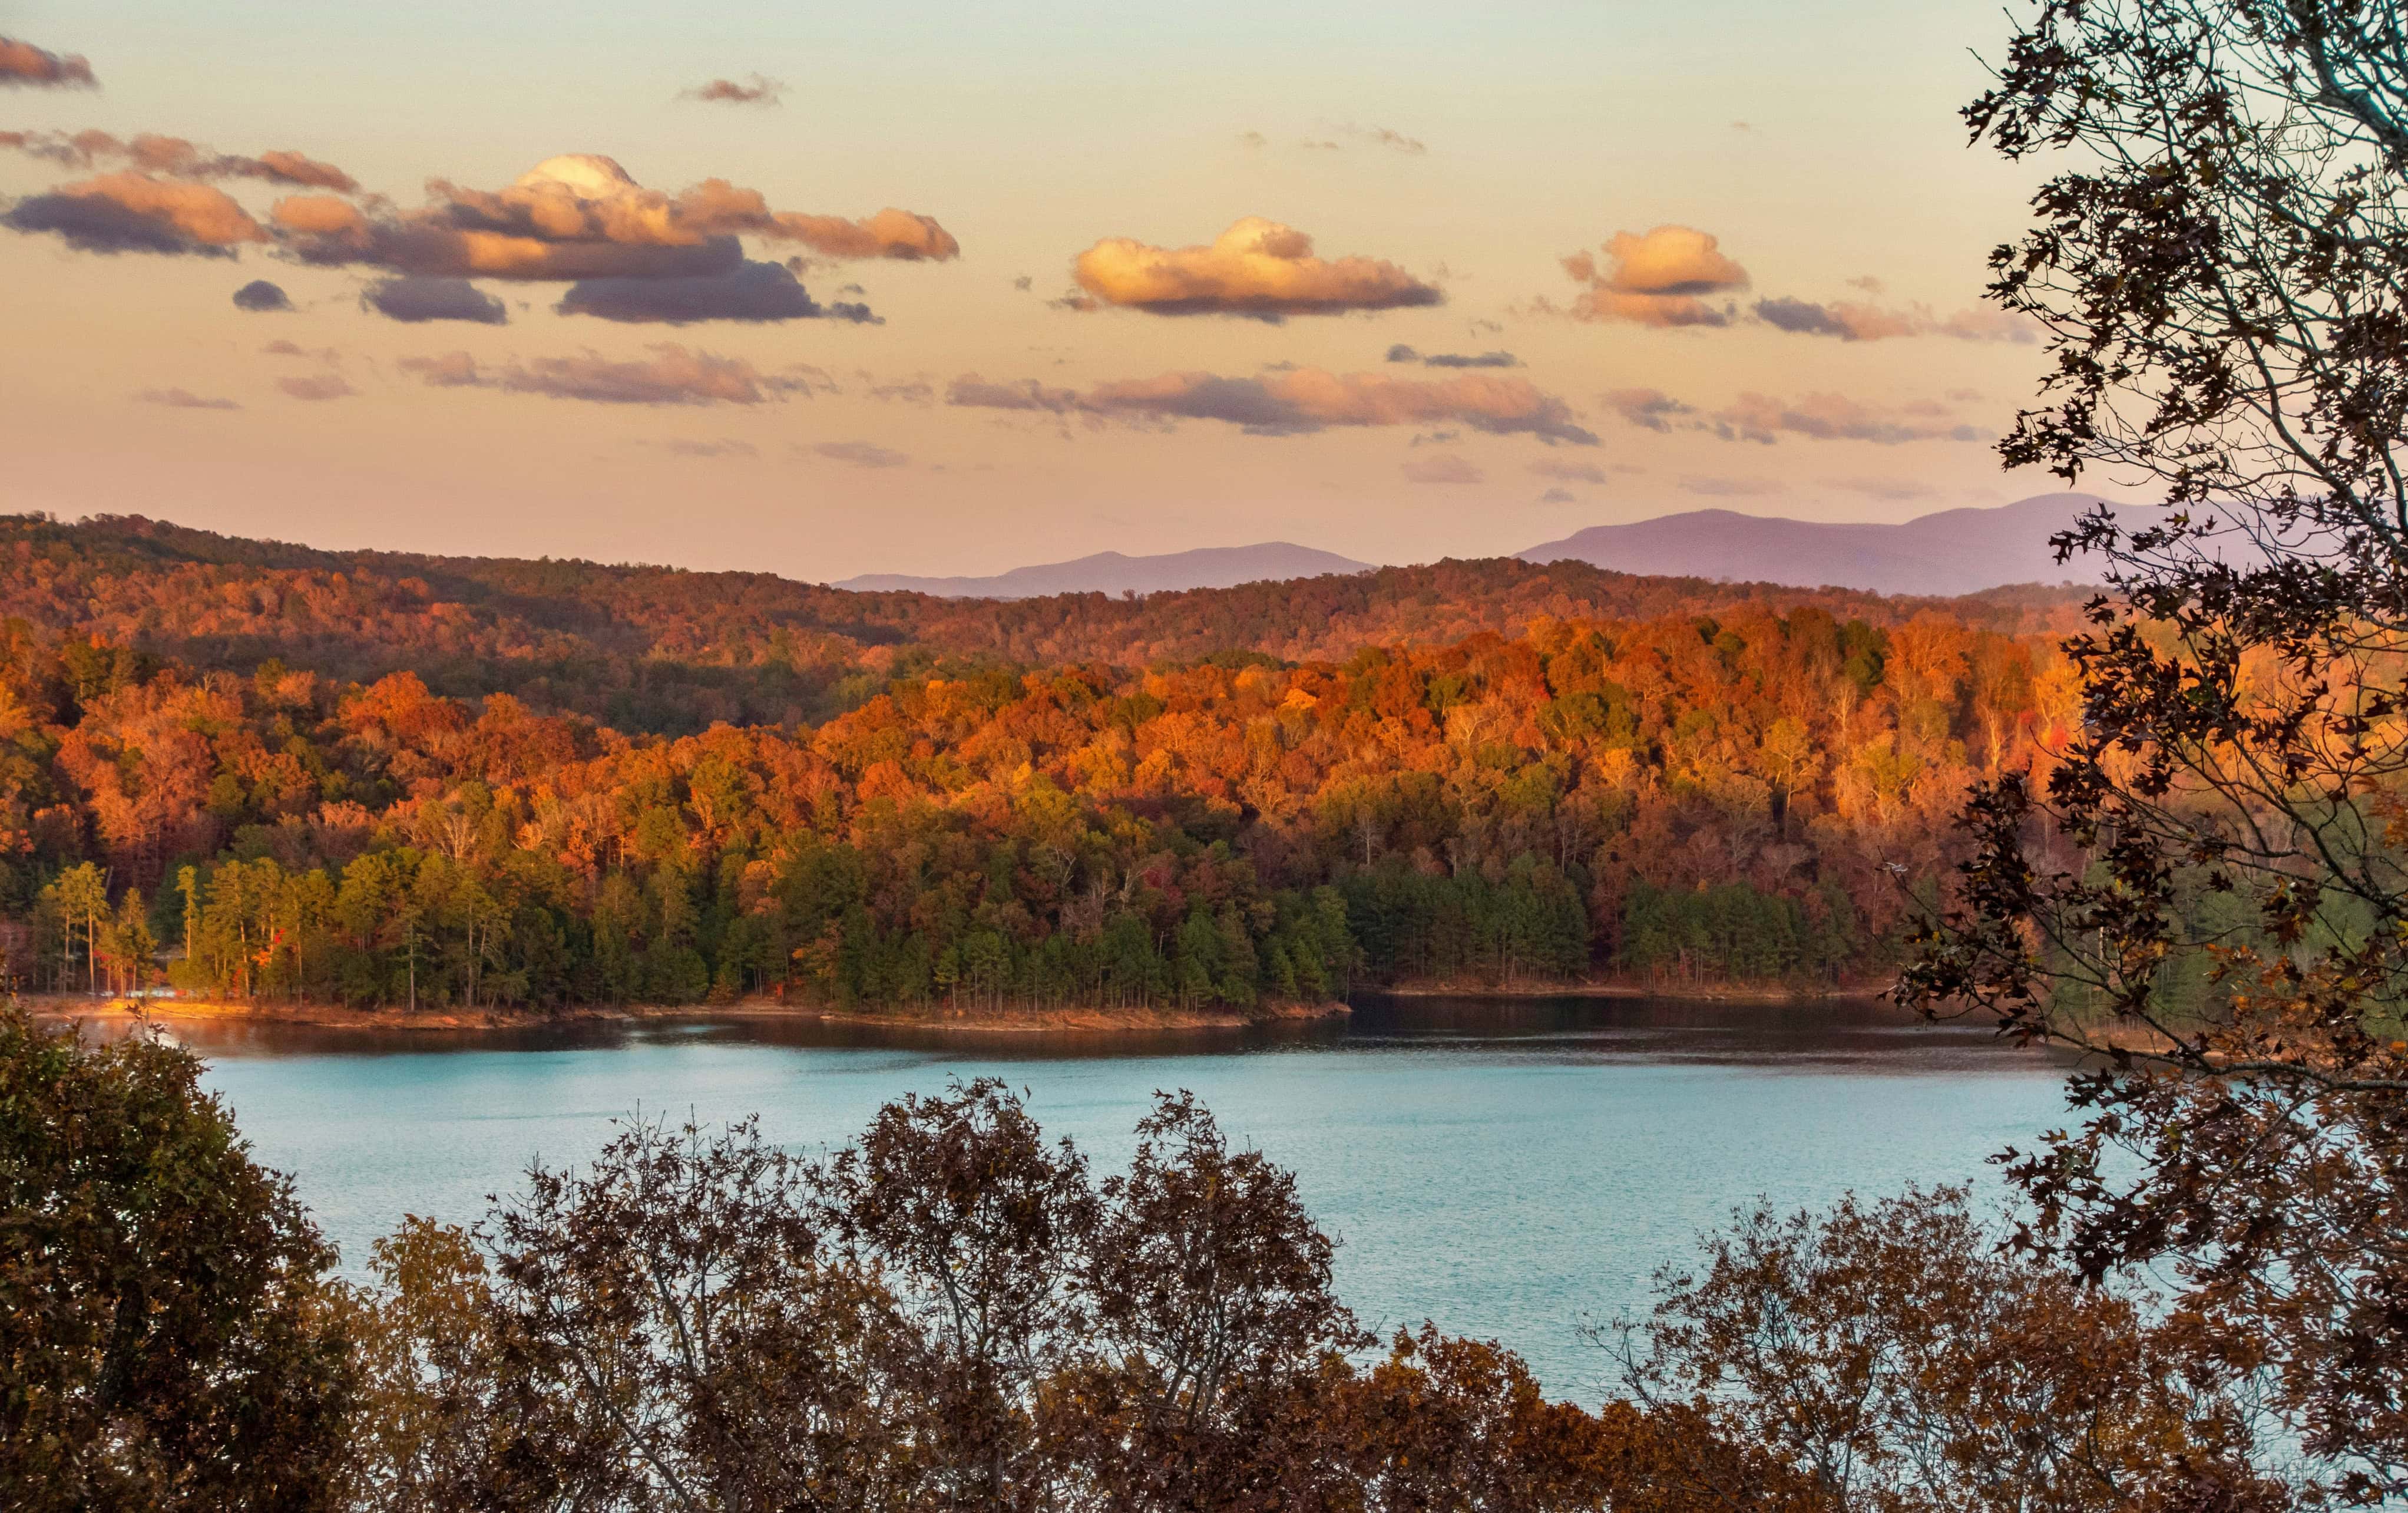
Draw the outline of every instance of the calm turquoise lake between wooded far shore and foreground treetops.
[[[879,1103],[995,1072],[1047,1132],[1117,1164],[1153,1089],[1194,1089],[1298,1173],[1375,1327],[1423,1318],[1519,1349],[1594,1397],[1584,1318],[1640,1311],[1657,1267],[1758,1195],[1784,1207],[1975,1181],[2061,1118],[2064,1067],[1873,1007],[1375,1002],[1344,1029],[1146,1043],[910,1036],[768,1022],[431,1036],[178,1024],[260,1159],[299,1181],[347,1267],[405,1212],[467,1221],[532,1159],[612,1118],[761,1115],[819,1152]]]

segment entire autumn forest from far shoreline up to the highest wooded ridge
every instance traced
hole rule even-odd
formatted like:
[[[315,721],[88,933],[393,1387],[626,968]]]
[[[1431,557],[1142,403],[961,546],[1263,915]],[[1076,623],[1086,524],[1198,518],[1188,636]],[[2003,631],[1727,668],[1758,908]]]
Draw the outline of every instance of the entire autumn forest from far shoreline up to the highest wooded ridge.
[[[737,578],[746,597],[585,564],[388,578],[356,564],[400,559],[332,571],[135,520],[12,530],[0,908],[17,981],[63,990],[152,985],[159,956],[185,990],[405,1007],[1830,985],[1885,966],[1967,781],[2076,713],[2037,593],[1442,564],[1421,590],[995,605]],[[1529,610],[1558,576],[1628,612]],[[1450,578],[1462,597],[1426,602]],[[1271,602],[1329,636],[1296,605],[1320,590],[1397,638],[1007,655],[1230,619],[1303,636]],[[780,660],[814,617],[824,660]],[[1457,619],[1507,624],[1416,636]],[[780,679],[850,708],[681,730]]]

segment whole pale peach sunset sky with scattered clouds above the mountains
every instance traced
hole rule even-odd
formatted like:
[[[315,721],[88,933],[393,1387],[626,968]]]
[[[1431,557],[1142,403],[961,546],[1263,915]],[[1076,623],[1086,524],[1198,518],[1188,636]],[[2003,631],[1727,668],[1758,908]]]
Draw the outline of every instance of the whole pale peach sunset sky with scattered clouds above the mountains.
[[[0,0],[0,508],[833,581],[2049,489],[1991,0]]]

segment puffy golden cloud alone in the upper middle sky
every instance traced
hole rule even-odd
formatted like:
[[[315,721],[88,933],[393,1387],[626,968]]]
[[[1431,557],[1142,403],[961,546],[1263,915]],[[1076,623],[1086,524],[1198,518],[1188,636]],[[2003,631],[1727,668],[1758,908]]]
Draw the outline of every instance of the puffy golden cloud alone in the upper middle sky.
[[[1293,226],[1247,217],[1211,246],[1158,248],[1127,236],[1079,253],[1072,272],[1100,299],[1156,316],[1332,316],[1440,304],[1445,294],[1377,258],[1312,255]]]

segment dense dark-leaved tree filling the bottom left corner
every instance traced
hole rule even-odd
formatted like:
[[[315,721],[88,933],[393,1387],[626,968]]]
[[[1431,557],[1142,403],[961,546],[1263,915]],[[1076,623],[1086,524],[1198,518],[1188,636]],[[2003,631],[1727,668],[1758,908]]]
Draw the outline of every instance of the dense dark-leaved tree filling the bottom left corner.
[[[332,1506],[352,1402],[327,1246],[200,1062],[0,1007],[0,1501]]]

